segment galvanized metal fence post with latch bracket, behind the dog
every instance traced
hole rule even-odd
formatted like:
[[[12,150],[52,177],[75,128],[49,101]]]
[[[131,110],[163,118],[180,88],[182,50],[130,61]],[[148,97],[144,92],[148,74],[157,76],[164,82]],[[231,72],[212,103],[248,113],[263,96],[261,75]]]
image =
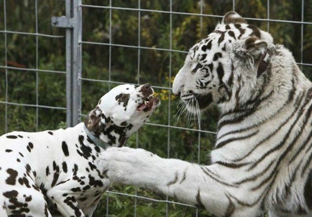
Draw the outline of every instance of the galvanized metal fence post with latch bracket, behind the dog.
[[[52,26],[66,28],[66,123],[75,126],[80,122],[81,77],[81,0],[65,1],[66,16],[52,17]]]

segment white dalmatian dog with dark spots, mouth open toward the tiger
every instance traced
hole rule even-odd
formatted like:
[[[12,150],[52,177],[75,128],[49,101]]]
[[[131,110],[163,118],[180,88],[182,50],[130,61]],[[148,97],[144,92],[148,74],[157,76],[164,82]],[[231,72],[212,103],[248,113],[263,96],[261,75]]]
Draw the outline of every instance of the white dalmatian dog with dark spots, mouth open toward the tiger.
[[[75,127],[0,137],[0,217],[92,216],[111,182],[99,156],[124,145],[160,105],[151,85],[124,84]]]

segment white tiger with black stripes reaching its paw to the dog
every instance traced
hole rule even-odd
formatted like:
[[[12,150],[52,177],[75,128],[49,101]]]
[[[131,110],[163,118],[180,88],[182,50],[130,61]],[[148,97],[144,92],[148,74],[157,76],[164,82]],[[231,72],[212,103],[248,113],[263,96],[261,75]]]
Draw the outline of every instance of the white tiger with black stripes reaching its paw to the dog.
[[[212,164],[110,148],[104,168],[115,183],[149,188],[216,216],[312,216],[312,83],[267,32],[227,13],[195,44],[173,92],[189,111],[221,111]]]

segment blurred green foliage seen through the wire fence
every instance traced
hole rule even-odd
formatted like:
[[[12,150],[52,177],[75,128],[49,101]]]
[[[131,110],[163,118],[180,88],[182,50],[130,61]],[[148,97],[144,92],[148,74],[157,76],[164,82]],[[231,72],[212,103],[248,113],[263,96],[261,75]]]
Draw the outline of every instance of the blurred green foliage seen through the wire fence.
[[[175,12],[200,13],[199,0],[172,0],[172,10]],[[204,15],[224,15],[232,10],[232,0],[202,0]],[[301,1],[277,0],[270,1],[270,18],[277,20],[301,20]],[[4,30],[4,0],[0,0],[0,30]],[[109,5],[109,0],[83,0],[83,4]],[[138,8],[137,0],[112,0],[116,7]],[[267,0],[235,0],[238,13],[249,18],[267,18]],[[51,17],[64,15],[64,1],[38,1],[39,33],[64,35],[63,29],[51,27]],[[140,8],[170,11],[168,0],[141,0]],[[112,22],[109,23],[110,10],[101,8],[82,8],[83,41],[95,41],[113,44],[125,44],[152,48],[164,48],[187,51],[195,42],[208,35],[215,28],[219,18],[196,15],[179,15],[159,12],[112,9]],[[6,0],[6,28],[9,31],[36,32],[35,0]],[[172,22],[170,20],[172,19]],[[312,2],[305,0],[304,21],[312,22]],[[250,23],[266,30],[266,21]],[[110,29],[112,38],[110,40]],[[140,29],[140,32],[138,32]],[[172,30],[172,31],[170,31]],[[301,25],[285,22],[270,22],[270,33],[275,42],[285,44],[301,61],[300,39]],[[303,25],[303,62],[312,63],[312,25]],[[172,41],[170,41],[170,32]],[[65,70],[65,39],[38,37],[38,61],[36,58],[36,36],[6,34],[7,60],[9,66],[36,68],[48,70]],[[138,41],[138,37],[140,40]],[[110,55],[111,49],[111,55]],[[82,77],[113,81],[145,83],[149,82],[160,87],[170,87],[174,75],[183,65],[185,53],[159,50],[140,49],[136,47],[111,48],[106,45],[82,44]],[[5,64],[5,34],[0,33],[0,65]],[[111,64],[109,60],[111,59]],[[139,62],[138,62],[139,59]],[[170,67],[171,66],[171,67]],[[312,78],[312,67],[302,67],[308,78]],[[38,74],[38,75],[37,75]],[[66,76],[45,72],[7,70],[8,101],[65,107],[66,106]],[[38,79],[36,79],[38,78]],[[36,95],[36,84],[38,93]],[[97,104],[98,99],[114,87],[107,82],[82,81],[82,114],[87,114]],[[0,68],[0,101],[5,101],[6,82],[5,70]],[[175,116],[177,100],[166,89],[156,88],[161,98],[161,107],[151,118],[155,124],[197,129],[196,121],[190,123]],[[171,103],[169,103],[169,99]],[[4,132],[6,106],[0,103],[0,134]],[[38,130],[64,128],[66,126],[65,110],[42,109],[34,107],[7,106],[8,130],[36,131],[36,114],[38,112]],[[202,117],[203,130],[215,131],[218,113],[215,107],[210,108]],[[83,119],[83,117],[82,117]],[[161,157],[180,158],[192,162],[207,163],[207,155],[214,143],[213,134],[198,133],[183,129],[169,129],[145,125],[133,135],[128,145],[152,151]],[[200,145],[199,145],[200,144]],[[200,152],[198,154],[198,149]],[[131,186],[113,186],[112,191],[129,195],[166,200],[144,189]],[[108,203],[106,199],[108,198]],[[172,198],[169,198],[172,200]],[[108,210],[107,210],[108,204]],[[130,196],[106,194],[98,205],[96,217],[102,217],[108,212],[111,217],[162,217],[168,212],[170,217],[193,217],[196,209],[165,202],[153,202]],[[208,212],[199,210],[200,216],[210,216]]]

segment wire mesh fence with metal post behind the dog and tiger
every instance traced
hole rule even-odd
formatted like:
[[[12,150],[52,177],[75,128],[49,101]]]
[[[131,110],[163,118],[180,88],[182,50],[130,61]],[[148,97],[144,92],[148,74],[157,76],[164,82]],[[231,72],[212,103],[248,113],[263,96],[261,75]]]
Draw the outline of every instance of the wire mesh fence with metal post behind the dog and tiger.
[[[311,79],[311,5],[311,0],[0,0],[0,132],[75,125],[114,86],[149,82],[162,106],[128,145],[207,163],[216,109],[203,115],[201,126],[179,119],[170,91],[188,48],[211,32],[223,14],[236,10],[290,48]],[[62,15],[52,24],[65,30],[51,27],[51,17]],[[96,215],[104,212],[209,215],[130,186],[108,191]]]

